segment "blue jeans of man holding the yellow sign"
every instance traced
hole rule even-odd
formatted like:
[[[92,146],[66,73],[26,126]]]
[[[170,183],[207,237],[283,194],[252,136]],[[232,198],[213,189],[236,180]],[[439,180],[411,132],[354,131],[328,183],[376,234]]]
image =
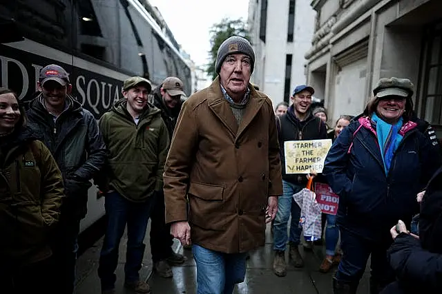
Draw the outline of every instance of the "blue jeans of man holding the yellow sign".
[[[287,244],[287,224],[291,213],[289,241],[298,245],[302,228],[299,226],[301,209],[293,199],[303,187],[282,180],[282,196],[278,197],[278,212],[273,220],[273,250],[285,251]]]

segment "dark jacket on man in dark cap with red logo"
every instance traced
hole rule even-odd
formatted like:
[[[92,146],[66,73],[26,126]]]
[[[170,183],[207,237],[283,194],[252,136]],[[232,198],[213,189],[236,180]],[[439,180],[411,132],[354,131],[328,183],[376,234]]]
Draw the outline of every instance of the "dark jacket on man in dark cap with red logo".
[[[67,198],[62,211],[84,218],[90,180],[104,167],[106,146],[93,114],[72,96],[69,107],[54,121],[37,96],[28,105],[28,126],[57,161]]]

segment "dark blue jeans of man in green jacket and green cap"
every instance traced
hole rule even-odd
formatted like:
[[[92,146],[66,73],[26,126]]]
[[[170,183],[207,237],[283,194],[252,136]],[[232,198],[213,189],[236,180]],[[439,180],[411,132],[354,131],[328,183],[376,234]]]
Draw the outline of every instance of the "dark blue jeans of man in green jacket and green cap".
[[[119,241],[121,240],[127,224],[127,251],[124,273],[126,282],[140,280],[140,271],[144,255],[144,236],[151,207],[155,196],[145,202],[131,202],[116,191],[106,194],[104,207],[108,224],[104,243],[99,257],[98,276],[101,279],[102,290],[113,289],[115,269],[118,263]]]

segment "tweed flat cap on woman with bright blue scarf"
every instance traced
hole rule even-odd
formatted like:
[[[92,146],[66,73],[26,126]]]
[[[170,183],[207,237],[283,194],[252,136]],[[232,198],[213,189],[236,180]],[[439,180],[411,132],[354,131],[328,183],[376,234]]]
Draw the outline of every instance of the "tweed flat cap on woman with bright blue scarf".
[[[408,78],[381,78],[373,90],[374,96],[381,98],[385,96],[412,96],[414,85]]]

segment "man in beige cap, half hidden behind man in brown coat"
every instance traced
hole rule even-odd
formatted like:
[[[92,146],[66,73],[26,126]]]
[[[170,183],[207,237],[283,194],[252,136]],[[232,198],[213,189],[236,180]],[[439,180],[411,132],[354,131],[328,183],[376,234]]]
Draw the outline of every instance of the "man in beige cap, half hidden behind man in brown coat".
[[[184,102],[183,83],[180,78],[169,76],[153,90],[153,105],[161,110],[161,116],[172,140],[173,129]],[[184,256],[173,252],[171,226],[164,219],[164,192],[160,191],[151,214],[151,253],[153,270],[160,277],[172,277],[171,266],[182,264]]]

